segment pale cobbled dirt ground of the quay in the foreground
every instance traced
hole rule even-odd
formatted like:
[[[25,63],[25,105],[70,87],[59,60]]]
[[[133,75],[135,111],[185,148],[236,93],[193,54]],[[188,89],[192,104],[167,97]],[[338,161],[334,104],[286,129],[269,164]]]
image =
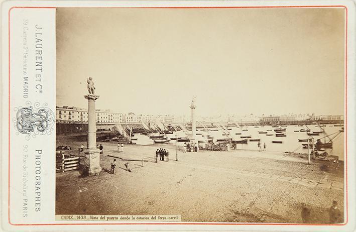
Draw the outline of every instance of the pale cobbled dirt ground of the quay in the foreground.
[[[77,149],[81,142],[57,140]],[[284,153],[236,150],[178,152],[175,146],[101,143],[102,172],[57,173],[56,214],[180,214],[182,221],[329,223],[338,202],[343,222],[343,163],[313,162]],[[155,151],[170,152],[155,162]],[[74,152],[75,153],[75,152]],[[116,174],[110,162],[116,156]],[[121,159],[145,159],[141,162]],[[126,170],[129,162],[132,172]],[[326,165],[326,166],[325,166]],[[327,167],[327,168],[325,168]]]

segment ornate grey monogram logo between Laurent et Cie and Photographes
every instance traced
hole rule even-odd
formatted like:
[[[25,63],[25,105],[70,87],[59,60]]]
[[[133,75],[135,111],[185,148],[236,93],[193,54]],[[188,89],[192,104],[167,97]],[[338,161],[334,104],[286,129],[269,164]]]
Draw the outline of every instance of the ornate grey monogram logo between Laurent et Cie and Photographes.
[[[26,102],[27,106],[16,107],[16,119],[13,121],[16,124],[17,134],[25,134],[26,139],[29,140],[31,134],[33,138],[37,135],[52,134],[53,126],[55,124],[55,115],[53,111],[46,107],[47,103],[40,106],[39,102],[35,102],[32,106],[30,101]]]

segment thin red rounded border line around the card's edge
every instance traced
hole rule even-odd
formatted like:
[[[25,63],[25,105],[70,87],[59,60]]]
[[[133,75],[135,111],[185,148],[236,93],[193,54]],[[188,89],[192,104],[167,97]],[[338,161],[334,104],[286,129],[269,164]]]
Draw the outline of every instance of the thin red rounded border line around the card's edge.
[[[13,9],[57,9],[65,7],[12,7],[9,9],[9,170],[8,170],[8,220],[11,225],[322,225],[322,226],[340,226],[346,225],[348,222],[348,194],[347,194],[347,7],[342,5],[330,6],[255,6],[255,7],[77,7],[77,8],[138,8],[138,9],[263,9],[263,8],[344,8],[345,15],[345,178],[346,178],[346,221],[342,224],[306,224],[306,223],[234,223],[234,222],[152,222],[152,223],[34,223],[34,224],[14,224],[10,220],[10,12]],[[69,7],[68,7],[69,8]],[[73,7],[71,7],[73,8]]]

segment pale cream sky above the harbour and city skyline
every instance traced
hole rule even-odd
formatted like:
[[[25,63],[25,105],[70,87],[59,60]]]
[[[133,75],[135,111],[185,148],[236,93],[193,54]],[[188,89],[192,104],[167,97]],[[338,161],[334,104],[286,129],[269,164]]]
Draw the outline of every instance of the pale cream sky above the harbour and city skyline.
[[[343,114],[344,9],[57,9],[57,105]]]

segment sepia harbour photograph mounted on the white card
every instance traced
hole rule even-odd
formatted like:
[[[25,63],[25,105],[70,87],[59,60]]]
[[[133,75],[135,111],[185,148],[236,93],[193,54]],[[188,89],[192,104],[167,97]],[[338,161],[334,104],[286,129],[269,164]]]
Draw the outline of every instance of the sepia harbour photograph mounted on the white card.
[[[345,14],[56,8],[55,214],[344,223]]]

